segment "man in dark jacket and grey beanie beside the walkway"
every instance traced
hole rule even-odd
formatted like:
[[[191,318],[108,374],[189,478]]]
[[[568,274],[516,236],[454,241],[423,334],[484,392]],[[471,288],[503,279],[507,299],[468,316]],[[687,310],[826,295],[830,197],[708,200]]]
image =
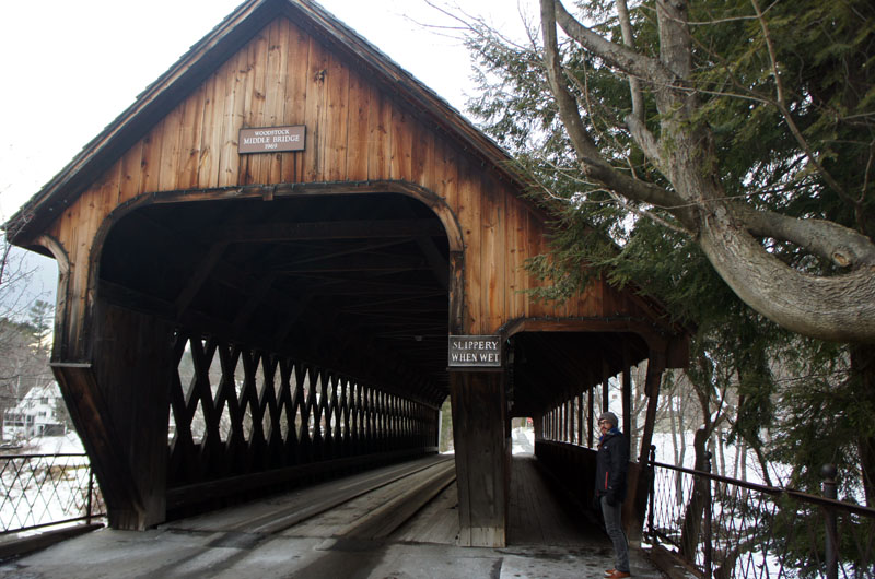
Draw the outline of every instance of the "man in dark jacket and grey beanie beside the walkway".
[[[629,445],[617,428],[617,415],[604,412],[598,416],[598,454],[596,456],[595,496],[602,506],[605,530],[614,543],[617,557],[614,569],[605,571],[609,579],[631,577],[629,548],[622,532],[622,501],[626,499],[626,473],[629,468]]]

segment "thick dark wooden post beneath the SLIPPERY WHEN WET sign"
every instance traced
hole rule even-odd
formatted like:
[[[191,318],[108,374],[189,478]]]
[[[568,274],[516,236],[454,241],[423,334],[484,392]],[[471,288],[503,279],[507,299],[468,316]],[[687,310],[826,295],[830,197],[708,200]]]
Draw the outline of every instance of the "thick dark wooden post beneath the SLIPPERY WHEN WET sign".
[[[509,439],[503,374],[450,376],[462,546],[506,544]]]

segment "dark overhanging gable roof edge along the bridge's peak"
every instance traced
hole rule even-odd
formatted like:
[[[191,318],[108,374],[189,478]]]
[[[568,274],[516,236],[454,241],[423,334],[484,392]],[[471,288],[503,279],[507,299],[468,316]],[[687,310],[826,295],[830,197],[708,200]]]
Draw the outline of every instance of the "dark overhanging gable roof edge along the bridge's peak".
[[[369,71],[376,84],[423,115],[434,128],[522,189],[524,179],[508,163],[511,158],[506,152],[446,101],[318,3],[311,0],[249,0],[138,95],[121,115],[4,224],[12,243],[31,245],[34,237],[43,233],[130,145],[277,16],[289,17],[331,50]]]

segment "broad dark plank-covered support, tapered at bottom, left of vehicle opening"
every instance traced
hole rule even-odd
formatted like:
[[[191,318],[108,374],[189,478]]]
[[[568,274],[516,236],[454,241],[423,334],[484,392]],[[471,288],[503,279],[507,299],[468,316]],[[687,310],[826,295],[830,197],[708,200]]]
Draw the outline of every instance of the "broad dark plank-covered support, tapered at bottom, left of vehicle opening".
[[[170,327],[98,304],[93,362],[54,361],[67,407],[106,500],[110,527],[165,519]]]

